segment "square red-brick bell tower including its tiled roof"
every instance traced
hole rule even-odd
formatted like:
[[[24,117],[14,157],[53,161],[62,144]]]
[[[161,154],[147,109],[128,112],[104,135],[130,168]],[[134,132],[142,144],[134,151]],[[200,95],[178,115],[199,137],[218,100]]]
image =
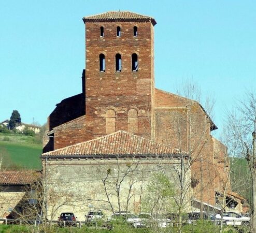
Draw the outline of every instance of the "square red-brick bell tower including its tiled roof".
[[[94,138],[117,130],[153,138],[157,22],[128,11],[96,14],[83,22],[88,132]]]

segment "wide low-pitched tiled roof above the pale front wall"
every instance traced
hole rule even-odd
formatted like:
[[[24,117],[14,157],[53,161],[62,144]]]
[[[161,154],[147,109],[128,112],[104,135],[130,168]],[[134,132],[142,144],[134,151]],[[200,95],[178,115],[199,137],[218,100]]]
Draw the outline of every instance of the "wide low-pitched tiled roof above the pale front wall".
[[[170,155],[181,154],[178,149],[167,147],[124,131],[118,131],[93,140],[69,145],[46,152],[44,156],[84,156],[84,155]],[[182,154],[185,154],[182,152]]]

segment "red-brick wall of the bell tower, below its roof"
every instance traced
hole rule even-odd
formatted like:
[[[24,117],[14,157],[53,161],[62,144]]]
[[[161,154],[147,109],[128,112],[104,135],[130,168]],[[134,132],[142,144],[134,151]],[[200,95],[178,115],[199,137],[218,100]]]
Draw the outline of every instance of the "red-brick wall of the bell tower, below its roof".
[[[104,36],[100,36],[100,27]],[[117,26],[121,36],[117,36]],[[138,36],[133,36],[137,26]],[[129,131],[128,113],[138,112],[137,135],[150,138],[153,98],[153,26],[151,22],[86,23],[86,114],[94,137],[107,134],[106,111],[116,113],[116,130]],[[116,54],[122,68],[116,71]],[[132,54],[138,71],[132,71]],[[99,71],[99,54],[105,55],[105,72]],[[109,119],[111,120],[111,119]],[[113,120],[113,119],[112,119]],[[135,120],[136,121],[136,120]]]

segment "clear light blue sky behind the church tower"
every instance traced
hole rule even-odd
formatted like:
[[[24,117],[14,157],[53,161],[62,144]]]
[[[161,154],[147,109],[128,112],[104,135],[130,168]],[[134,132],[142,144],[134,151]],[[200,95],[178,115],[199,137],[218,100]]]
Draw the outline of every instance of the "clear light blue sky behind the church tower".
[[[176,93],[193,79],[214,96],[214,122],[256,90],[256,1],[0,1],[0,121],[18,110],[44,124],[55,105],[81,93],[85,66],[82,17],[125,10],[157,21],[155,86]],[[203,101],[203,100],[202,100]]]

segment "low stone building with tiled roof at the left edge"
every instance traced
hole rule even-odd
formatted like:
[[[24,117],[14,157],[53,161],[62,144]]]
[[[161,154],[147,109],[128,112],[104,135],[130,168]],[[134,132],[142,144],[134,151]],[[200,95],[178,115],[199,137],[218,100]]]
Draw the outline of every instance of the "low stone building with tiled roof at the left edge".
[[[25,211],[25,202],[30,200],[27,193],[32,192],[40,176],[41,172],[35,170],[0,171],[0,217]]]

